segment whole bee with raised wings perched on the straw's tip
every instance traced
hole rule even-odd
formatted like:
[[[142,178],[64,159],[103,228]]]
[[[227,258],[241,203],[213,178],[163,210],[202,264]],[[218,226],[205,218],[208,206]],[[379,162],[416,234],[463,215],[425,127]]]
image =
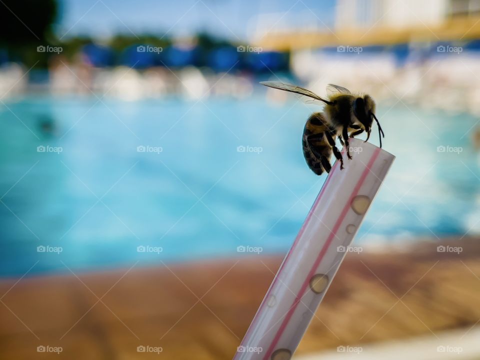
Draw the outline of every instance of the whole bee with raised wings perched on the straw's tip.
[[[380,123],[375,116],[375,102],[368,94],[352,94],[342,86],[328,84],[330,92],[328,98],[322,98],[303,87],[280,81],[261,81],[262,85],[276,89],[294,92],[301,97],[306,96],[307,102],[319,102],[324,105],[322,112],[314,112],[308,117],[303,129],[302,146],[303,156],[308,167],[317,175],[323,171],[330,172],[331,153],[340,161],[343,169],[343,157],[336,147],[338,138],[346,146],[346,155],[351,159],[349,152],[350,137],[366,132],[365,142],[370,138],[373,119],[378,126],[378,137],[384,137]],[[313,99],[313,100],[312,100]]]

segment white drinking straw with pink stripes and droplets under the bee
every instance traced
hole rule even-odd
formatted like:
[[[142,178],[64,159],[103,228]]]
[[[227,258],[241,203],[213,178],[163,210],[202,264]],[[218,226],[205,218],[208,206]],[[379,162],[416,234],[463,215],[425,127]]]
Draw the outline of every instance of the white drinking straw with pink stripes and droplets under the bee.
[[[298,346],[395,158],[353,138],[350,153],[332,166],[234,360],[288,360]]]

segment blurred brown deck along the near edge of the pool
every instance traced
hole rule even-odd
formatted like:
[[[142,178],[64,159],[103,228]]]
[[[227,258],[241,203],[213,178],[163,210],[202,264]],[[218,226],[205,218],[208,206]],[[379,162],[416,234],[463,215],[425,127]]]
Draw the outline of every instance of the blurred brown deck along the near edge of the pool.
[[[349,253],[297,353],[466,332],[480,319],[480,242],[447,243],[462,252],[423,242]],[[259,255],[3,280],[0,359],[230,359],[280,261]],[[162,352],[137,352],[141,345]]]

